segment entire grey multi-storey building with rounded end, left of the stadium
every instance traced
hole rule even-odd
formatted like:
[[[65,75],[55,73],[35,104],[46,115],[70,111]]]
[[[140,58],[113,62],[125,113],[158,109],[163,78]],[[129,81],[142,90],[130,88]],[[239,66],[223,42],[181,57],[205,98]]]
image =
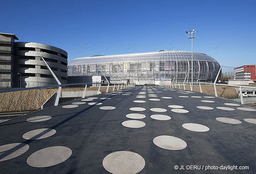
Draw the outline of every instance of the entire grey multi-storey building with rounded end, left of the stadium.
[[[15,42],[14,34],[0,33],[0,88],[56,84],[47,62],[61,84],[67,84],[67,52],[54,46]],[[19,74],[18,74],[19,73]]]

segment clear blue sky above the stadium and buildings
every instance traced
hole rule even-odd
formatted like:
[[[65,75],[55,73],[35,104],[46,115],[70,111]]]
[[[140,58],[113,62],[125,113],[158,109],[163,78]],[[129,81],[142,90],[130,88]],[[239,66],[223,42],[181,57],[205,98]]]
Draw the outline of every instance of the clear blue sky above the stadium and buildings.
[[[91,0],[1,2],[0,32],[49,44],[68,61],[91,55],[194,51],[224,66],[256,64],[255,0]]]

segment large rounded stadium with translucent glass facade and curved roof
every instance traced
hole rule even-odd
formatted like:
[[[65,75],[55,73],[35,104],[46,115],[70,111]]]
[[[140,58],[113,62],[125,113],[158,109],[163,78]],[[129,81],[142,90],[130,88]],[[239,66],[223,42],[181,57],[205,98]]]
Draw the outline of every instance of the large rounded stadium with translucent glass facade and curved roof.
[[[95,55],[68,63],[68,76],[105,75],[113,81],[148,84],[165,79],[191,82],[192,54],[182,51],[146,52],[126,55]],[[214,82],[220,65],[203,53],[193,52],[194,82]]]

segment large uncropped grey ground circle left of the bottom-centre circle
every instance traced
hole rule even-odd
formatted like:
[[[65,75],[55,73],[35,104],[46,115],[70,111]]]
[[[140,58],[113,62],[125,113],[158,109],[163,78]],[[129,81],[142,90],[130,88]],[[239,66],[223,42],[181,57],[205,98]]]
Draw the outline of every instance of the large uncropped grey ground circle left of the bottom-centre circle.
[[[49,167],[66,161],[71,154],[71,149],[64,146],[43,148],[31,154],[27,163],[32,167]]]

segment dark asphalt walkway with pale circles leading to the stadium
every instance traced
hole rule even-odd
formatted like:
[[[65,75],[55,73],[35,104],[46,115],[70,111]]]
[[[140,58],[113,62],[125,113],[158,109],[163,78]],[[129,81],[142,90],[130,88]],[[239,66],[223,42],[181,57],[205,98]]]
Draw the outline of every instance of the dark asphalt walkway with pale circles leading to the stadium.
[[[0,173],[255,174],[255,133],[256,110],[246,105],[134,87],[0,123]],[[249,169],[205,171],[221,165]]]

